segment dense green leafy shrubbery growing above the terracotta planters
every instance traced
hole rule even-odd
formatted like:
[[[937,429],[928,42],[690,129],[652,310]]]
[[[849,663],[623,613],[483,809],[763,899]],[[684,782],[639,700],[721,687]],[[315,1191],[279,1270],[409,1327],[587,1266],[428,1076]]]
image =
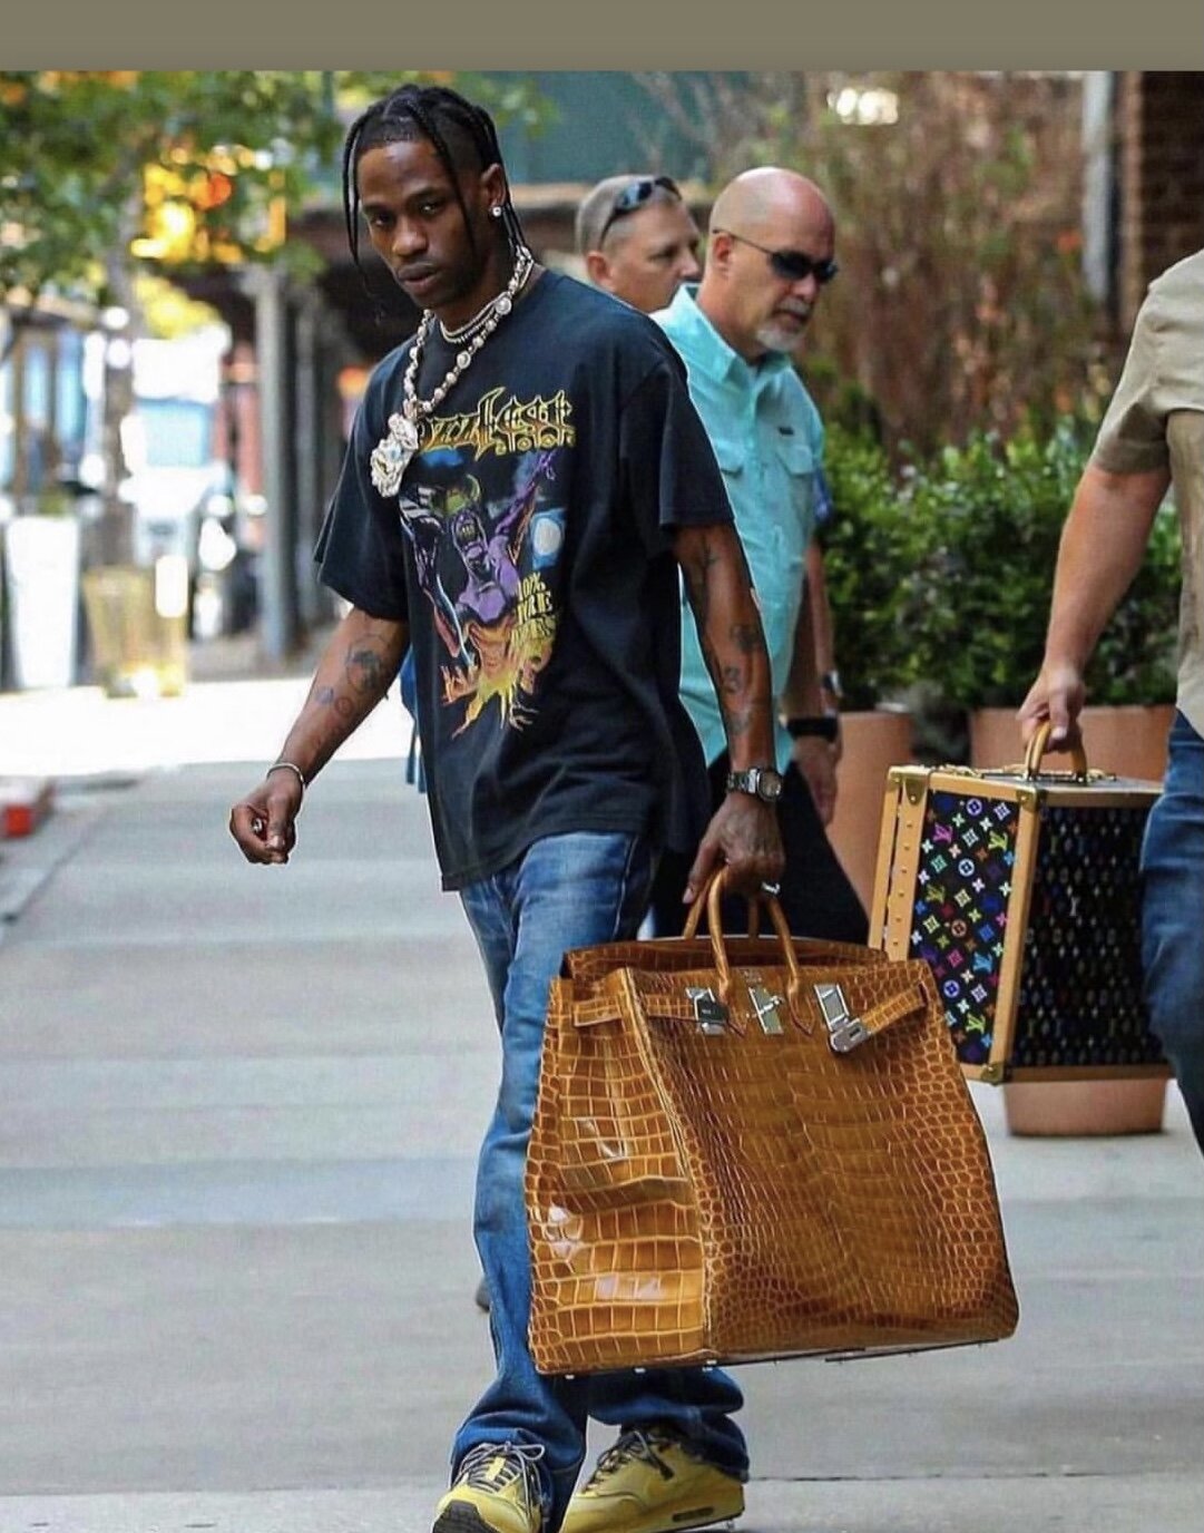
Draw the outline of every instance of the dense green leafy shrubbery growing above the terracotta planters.
[[[824,533],[849,707],[919,684],[951,708],[1019,707],[1040,670],[1062,527],[1091,451],[1088,423],[964,448],[892,471],[833,428],[835,515]],[[1179,535],[1173,507],[1088,667],[1092,704],[1175,698]]]

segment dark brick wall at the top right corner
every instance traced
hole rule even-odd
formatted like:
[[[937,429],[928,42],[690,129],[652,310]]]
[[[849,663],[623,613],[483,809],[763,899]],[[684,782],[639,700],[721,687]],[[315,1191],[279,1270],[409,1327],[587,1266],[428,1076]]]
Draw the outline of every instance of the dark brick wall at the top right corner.
[[[1204,247],[1204,72],[1126,72],[1120,138],[1120,323],[1146,287]]]

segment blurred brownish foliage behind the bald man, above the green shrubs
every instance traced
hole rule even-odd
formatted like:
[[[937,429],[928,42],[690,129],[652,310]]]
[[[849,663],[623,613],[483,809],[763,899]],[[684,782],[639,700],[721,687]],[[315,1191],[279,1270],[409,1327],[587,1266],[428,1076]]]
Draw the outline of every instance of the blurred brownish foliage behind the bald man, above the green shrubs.
[[[780,164],[827,195],[841,274],[803,369],[829,420],[853,405],[892,451],[927,452],[1098,419],[1117,357],[1081,273],[1077,78],[777,72],[692,81],[689,100],[645,80],[708,144],[715,187]]]

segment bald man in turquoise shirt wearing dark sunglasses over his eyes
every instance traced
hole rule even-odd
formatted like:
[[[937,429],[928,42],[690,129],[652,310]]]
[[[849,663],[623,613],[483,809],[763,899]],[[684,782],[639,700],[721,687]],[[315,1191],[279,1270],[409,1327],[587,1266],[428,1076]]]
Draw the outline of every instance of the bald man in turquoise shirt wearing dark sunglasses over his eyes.
[[[820,189],[792,170],[761,167],[731,181],[711,210],[702,282],[683,282],[654,314],[686,363],[752,567],[786,763],[778,820],[786,851],[780,901],[797,935],[864,943],[865,911],[824,825],[836,799],[835,676],[815,662],[816,612],[809,566],[826,514],[824,431],[793,366],[820,294],[836,274],[835,221]],[[685,613],[683,613],[685,616]],[[744,786],[732,773],[706,661],[682,630],[682,696],[703,742],[712,799]],[[826,696],[827,693],[827,696]],[[654,891],[657,932],[682,929],[686,863],[665,857]],[[725,924],[741,911],[725,912]]]

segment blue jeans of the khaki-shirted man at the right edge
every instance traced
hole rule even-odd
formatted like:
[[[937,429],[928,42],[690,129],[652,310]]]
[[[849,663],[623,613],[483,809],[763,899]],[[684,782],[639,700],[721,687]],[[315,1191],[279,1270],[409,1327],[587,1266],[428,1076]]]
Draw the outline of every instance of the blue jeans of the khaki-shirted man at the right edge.
[[[1204,1150],[1204,740],[1181,713],[1170,727],[1163,794],[1146,823],[1141,874],[1150,1027],[1175,1070]]]

